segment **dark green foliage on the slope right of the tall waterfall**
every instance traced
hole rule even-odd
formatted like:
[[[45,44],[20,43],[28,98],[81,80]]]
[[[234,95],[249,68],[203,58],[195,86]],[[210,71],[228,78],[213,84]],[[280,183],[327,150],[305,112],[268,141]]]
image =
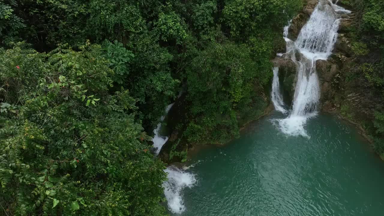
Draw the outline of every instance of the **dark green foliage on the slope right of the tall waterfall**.
[[[374,149],[384,160],[384,2],[343,0],[341,3],[351,7],[357,16],[347,35],[355,59],[353,69],[348,71],[349,81],[363,86],[359,91],[367,95],[366,100],[376,110],[368,120],[361,121],[372,136]],[[347,108],[344,107],[344,113],[353,111]]]

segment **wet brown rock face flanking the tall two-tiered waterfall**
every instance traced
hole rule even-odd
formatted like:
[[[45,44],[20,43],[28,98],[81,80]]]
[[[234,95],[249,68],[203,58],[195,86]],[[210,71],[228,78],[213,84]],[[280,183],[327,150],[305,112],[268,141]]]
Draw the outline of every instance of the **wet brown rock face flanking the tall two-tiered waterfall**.
[[[288,38],[291,40],[297,39],[301,28],[308,21],[317,4],[318,0],[306,0],[303,10],[292,20],[288,29]],[[343,14],[341,18],[338,39],[334,46],[333,55],[328,60],[316,61],[316,70],[321,88],[321,110],[328,112],[340,111],[342,107],[341,101],[343,103],[346,101],[359,101],[357,100],[359,96],[357,93],[350,92],[350,94],[344,94],[346,91],[352,90],[354,86],[353,83],[346,80],[346,73],[351,70],[355,61],[348,34],[349,29],[355,25],[356,14]],[[296,56],[296,58],[300,57]],[[282,82],[284,99],[286,103],[288,100],[288,104],[290,104],[295,91],[295,71],[297,65],[289,59],[281,58],[274,60],[273,63],[275,66],[279,66],[279,78]],[[357,105],[353,104],[352,106]]]

